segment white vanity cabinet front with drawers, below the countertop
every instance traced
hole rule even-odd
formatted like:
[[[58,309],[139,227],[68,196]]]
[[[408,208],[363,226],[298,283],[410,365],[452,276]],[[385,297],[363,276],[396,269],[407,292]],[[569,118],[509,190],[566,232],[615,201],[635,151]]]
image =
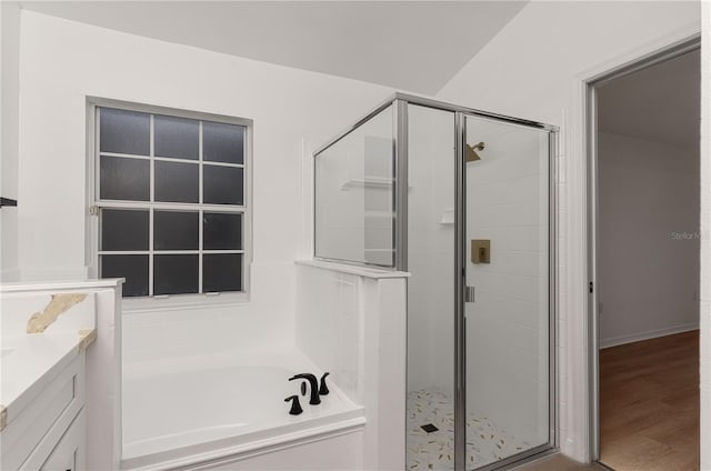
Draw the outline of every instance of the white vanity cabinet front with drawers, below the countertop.
[[[86,469],[84,352],[17,404],[2,430],[4,470]],[[23,398],[24,399],[24,398]]]

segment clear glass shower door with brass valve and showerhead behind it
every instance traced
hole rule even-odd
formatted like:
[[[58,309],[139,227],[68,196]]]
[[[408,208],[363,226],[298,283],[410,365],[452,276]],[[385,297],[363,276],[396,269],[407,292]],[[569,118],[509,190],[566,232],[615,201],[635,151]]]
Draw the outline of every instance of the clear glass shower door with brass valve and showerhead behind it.
[[[464,116],[465,468],[553,440],[550,132]],[[515,458],[512,458],[515,457]]]

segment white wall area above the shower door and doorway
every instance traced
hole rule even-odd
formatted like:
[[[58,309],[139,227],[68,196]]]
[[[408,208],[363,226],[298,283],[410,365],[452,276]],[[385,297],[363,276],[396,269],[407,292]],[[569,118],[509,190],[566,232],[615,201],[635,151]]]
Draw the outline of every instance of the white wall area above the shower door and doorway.
[[[437,98],[562,124],[571,79],[641,44],[699,27],[698,1],[533,0]]]

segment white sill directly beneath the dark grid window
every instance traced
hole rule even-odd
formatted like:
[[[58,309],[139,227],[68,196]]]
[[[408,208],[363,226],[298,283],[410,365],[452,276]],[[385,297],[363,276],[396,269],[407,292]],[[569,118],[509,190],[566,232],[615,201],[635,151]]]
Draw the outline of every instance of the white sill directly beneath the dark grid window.
[[[143,312],[221,309],[231,305],[243,305],[249,302],[250,297],[247,292],[176,294],[166,298],[123,298],[122,311],[124,314],[139,314]]]

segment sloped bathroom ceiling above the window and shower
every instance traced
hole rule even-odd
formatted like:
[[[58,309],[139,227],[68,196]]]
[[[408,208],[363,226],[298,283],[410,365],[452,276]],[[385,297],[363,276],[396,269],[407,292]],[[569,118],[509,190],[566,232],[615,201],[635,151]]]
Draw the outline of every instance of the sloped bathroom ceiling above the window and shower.
[[[527,1],[21,1],[20,4],[28,10],[133,34],[435,94]]]

